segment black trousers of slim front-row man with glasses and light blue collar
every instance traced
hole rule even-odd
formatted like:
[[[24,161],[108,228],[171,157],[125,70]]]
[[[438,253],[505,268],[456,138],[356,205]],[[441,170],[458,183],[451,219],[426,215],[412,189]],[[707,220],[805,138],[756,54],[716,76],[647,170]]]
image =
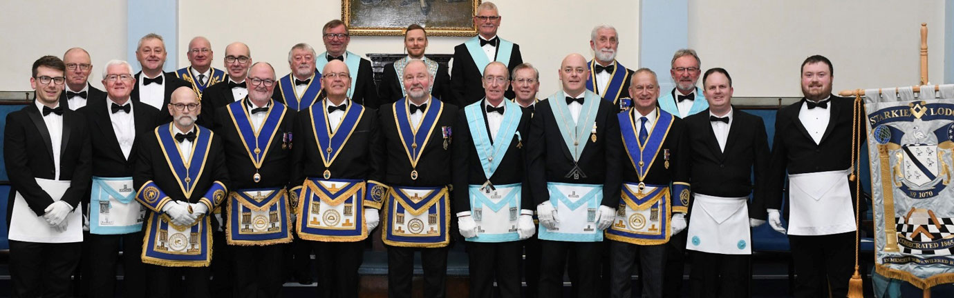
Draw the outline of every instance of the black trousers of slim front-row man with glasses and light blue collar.
[[[470,297],[520,297],[520,241],[482,243],[467,241]],[[494,290],[497,281],[499,290]],[[496,291],[496,293],[495,293]]]

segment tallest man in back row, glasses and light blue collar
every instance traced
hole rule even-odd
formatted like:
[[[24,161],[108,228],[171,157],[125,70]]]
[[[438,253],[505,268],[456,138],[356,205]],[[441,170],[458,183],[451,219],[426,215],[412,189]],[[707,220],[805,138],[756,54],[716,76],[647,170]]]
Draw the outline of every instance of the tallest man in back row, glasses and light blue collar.
[[[477,15],[474,15],[477,36],[454,47],[450,89],[454,92],[454,99],[459,106],[473,104],[483,97],[481,78],[484,77],[484,68],[490,62],[501,62],[507,66],[508,71],[513,71],[514,67],[524,63],[520,46],[497,36],[501,19],[496,5],[489,1],[481,3],[477,7]],[[513,98],[513,90],[507,89],[504,96]]]

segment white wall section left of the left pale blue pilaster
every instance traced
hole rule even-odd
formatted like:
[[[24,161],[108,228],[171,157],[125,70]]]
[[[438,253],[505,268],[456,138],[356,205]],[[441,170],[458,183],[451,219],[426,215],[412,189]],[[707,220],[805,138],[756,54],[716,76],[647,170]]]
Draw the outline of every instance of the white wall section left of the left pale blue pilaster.
[[[0,11],[0,90],[30,90],[33,61],[74,47],[90,52],[102,89],[103,66],[126,56],[125,1],[2,1]]]

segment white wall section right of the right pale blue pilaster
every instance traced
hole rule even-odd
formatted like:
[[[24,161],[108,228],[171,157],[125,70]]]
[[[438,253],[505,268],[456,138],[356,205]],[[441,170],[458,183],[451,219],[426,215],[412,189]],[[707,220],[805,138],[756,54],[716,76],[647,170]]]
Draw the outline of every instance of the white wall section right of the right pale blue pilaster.
[[[832,60],[834,91],[917,85],[921,23],[931,82],[944,82],[944,1],[691,0],[689,45],[721,67],[735,96],[801,96],[810,55]],[[699,85],[701,86],[701,78]]]

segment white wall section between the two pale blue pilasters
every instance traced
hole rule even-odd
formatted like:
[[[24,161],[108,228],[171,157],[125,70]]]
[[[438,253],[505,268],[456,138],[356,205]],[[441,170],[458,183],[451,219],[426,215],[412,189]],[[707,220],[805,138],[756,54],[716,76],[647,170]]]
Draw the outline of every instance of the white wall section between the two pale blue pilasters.
[[[617,58],[629,68],[637,67],[638,1],[598,2],[612,10],[601,10],[593,2],[573,0],[499,0],[494,3],[503,16],[500,36],[519,44],[524,62],[541,71],[540,96],[559,88],[556,71],[564,56],[570,52],[592,56],[590,31],[603,20],[619,20],[611,24],[622,41]],[[189,64],[185,55],[189,40],[203,35],[215,50],[214,67],[222,67],[225,46],[241,41],[251,48],[253,60],[271,63],[281,76],[289,71],[288,50],[293,45],[306,42],[315,50],[323,51],[321,27],[327,21],[341,18],[342,6],[340,1],[334,0],[180,1],[178,12],[178,43],[182,49],[170,51],[178,55],[180,68]],[[454,46],[465,40],[466,37],[432,36],[427,52],[453,53]],[[353,36],[348,50],[358,54],[400,53],[404,51],[404,43],[400,36]]]

